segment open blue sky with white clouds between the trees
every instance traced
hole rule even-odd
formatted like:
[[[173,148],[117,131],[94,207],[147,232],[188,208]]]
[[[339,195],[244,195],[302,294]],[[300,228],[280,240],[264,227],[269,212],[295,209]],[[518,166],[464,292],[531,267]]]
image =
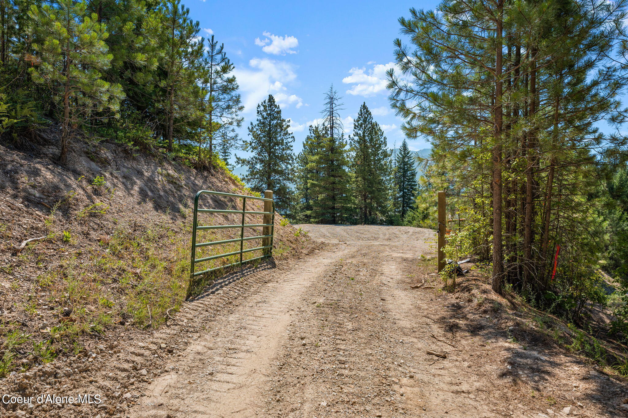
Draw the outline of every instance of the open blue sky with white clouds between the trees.
[[[390,147],[403,140],[386,91],[386,69],[394,60],[400,16],[408,9],[432,9],[435,1],[252,2],[186,0],[202,36],[214,34],[236,66],[245,105],[244,125],[255,120],[257,103],[273,94],[284,118],[290,118],[295,152],[320,118],[323,93],[333,86],[344,97],[345,130],[366,102],[384,129]],[[412,140],[413,150],[428,147]]]

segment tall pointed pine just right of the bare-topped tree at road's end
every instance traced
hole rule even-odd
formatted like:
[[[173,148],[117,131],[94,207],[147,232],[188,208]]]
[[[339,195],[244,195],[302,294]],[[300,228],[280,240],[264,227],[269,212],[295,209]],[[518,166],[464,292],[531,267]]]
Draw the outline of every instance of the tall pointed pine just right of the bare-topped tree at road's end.
[[[386,137],[373,120],[366,103],[362,103],[350,137],[352,151],[352,190],[361,224],[381,223],[388,211],[391,152]]]

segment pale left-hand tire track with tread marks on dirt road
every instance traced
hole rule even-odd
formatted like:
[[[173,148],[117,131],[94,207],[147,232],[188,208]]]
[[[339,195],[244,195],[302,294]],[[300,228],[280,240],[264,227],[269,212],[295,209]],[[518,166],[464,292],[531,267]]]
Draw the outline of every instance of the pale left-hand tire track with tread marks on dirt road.
[[[268,380],[291,310],[308,286],[323,276],[344,251],[325,252],[282,275],[278,282],[244,299],[182,353],[184,360],[166,366],[134,417],[247,417],[260,407],[259,393]],[[190,313],[210,308],[203,299]],[[190,315],[190,317],[192,317]],[[177,370],[178,369],[178,370]]]

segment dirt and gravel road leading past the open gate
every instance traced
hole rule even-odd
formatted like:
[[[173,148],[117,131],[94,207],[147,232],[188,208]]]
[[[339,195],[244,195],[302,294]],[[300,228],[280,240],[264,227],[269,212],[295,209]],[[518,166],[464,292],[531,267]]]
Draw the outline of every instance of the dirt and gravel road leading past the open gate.
[[[592,394],[617,382],[580,382],[582,362],[520,346],[516,322],[431,288],[433,264],[420,256],[433,255],[432,231],[300,227],[332,244],[286,271],[254,273],[261,286],[229,315],[181,335],[192,342],[166,360],[132,417],[613,415]],[[202,296],[181,318],[213,309]]]

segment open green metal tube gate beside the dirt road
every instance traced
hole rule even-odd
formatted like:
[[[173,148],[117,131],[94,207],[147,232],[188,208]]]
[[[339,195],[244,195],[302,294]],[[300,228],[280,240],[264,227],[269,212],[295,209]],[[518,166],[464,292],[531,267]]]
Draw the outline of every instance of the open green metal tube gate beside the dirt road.
[[[223,209],[198,209],[198,199],[203,194],[212,194],[215,196],[229,196],[229,197],[240,197],[242,199],[242,210],[241,211],[230,211]],[[261,259],[265,257],[271,257],[273,255],[273,236],[274,236],[274,200],[273,200],[273,192],[266,191],[264,194],[266,197],[256,197],[256,196],[246,196],[244,194],[232,194],[232,193],[224,193],[224,192],[213,192],[202,190],[196,194],[194,198],[194,219],[192,224],[192,259],[190,262],[190,279],[195,278],[196,276],[200,276],[201,274],[210,273],[212,271],[218,269],[224,269],[231,266],[242,265],[242,263],[247,263],[248,261],[254,261],[256,259]],[[246,201],[247,199],[253,199],[256,201],[264,202],[264,212],[259,211],[247,211],[246,210]],[[208,226],[198,226],[198,212],[206,212],[206,213],[227,213],[227,214],[242,214],[242,222],[238,225],[208,225]],[[245,215],[263,215],[264,220],[261,224],[245,224]],[[244,228],[245,227],[262,227],[263,232],[262,235],[245,237],[244,236]],[[227,229],[227,228],[240,228],[240,238],[234,239],[223,239],[222,241],[210,241],[208,243],[198,243],[197,244],[197,231],[202,231],[205,229]],[[262,239],[262,246],[256,248],[247,248],[244,249],[244,241],[249,241],[250,239]],[[219,245],[219,244],[227,244],[227,243],[236,243],[240,242],[240,251],[232,251],[231,253],[217,254],[215,256],[208,256],[203,258],[196,258],[196,249],[199,247],[210,246],[210,245]],[[246,260],[242,259],[242,254],[250,253],[251,251],[263,251],[263,255],[255,258],[249,258]],[[229,257],[240,255],[240,261],[236,261],[236,263],[226,264],[224,266],[218,266],[214,268],[208,268],[203,271],[194,271],[197,263],[203,263],[203,261],[210,261],[218,258]]]

